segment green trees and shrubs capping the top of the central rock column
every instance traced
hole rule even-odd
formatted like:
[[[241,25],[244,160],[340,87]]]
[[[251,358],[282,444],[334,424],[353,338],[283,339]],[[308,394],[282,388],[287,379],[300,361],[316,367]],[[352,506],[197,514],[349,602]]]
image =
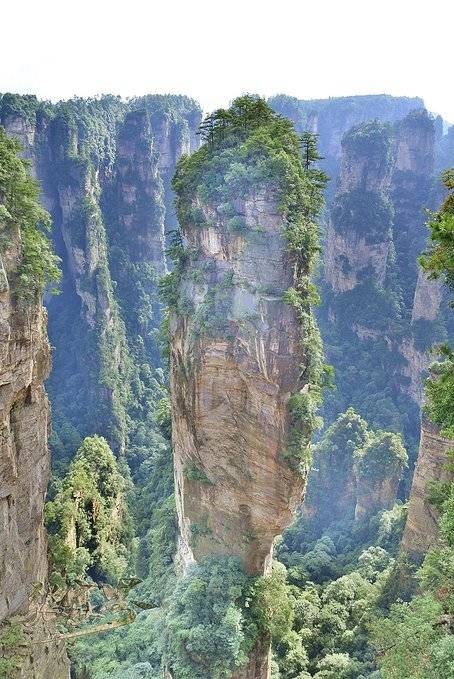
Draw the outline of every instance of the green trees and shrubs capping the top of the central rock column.
[[[318,247],[313,219],[323,200],[320,173],[304,169],[292,124],[262,99],[245,96],[228,111],[216,111],[213,125],[211,141],[179,161],[173,187],[180,224],[192,223],[191,210],[201,203],[232,205],[268,187],[284,210],[291,249],[302,265],[311,264]]]

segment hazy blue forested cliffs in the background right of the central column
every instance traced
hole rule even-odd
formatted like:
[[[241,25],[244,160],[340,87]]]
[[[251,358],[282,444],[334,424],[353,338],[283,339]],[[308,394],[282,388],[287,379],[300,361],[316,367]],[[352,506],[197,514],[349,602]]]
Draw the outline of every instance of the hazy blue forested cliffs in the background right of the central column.
[[[427,349],[453,331],[446,292],[417,264],[425,211],[440,197],[434,163],[441,149],[449,155],[452,135],[440,137],[440,122],[418,99],[272,103],[320,131],[333,172],[318,320],[337,389],[325,396],[324,417],[332,422],[353,406],[371,425],[403,432],[412,467]]]

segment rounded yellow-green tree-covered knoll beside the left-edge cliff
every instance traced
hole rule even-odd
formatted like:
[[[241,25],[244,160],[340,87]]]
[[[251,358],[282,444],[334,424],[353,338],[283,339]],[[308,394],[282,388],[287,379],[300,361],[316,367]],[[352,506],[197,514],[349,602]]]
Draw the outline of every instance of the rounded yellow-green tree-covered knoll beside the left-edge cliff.
[[[46,505],[56,587],[95,580],[118,582],[130,564],[126,483],[105,439],[86,438]],[[129,553],[128,553],[129,552]]]

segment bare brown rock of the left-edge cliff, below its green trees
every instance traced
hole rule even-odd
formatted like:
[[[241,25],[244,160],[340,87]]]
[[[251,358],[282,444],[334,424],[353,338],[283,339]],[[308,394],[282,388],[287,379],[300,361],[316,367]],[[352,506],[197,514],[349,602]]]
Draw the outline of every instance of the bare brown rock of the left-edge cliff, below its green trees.
[[[21,310],[14,301],[19,233],[2,253],[0,290],[0,623],[18,621],[30,642],[18,649],[26,679],[67,679],[64,645],[39,611],[47,583],[44,497],[50,472],[50,367],[46,313],[41,304]],[[38,595],[32,594],[39,592]],[[47,640],[47,641],[46,641]]]

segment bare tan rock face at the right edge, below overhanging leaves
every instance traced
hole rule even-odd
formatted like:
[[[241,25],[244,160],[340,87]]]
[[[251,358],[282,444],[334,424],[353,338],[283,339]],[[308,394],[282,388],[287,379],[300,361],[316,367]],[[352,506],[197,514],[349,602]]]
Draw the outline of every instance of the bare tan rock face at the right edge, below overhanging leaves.
[[[421,442],[410,493],[407,523],[401,546],[419,561],[438,540],[438,512],[428,501],[429,484],[452,480],[445,464],[454,441],[440,434],[439,427],[423,417]]]

